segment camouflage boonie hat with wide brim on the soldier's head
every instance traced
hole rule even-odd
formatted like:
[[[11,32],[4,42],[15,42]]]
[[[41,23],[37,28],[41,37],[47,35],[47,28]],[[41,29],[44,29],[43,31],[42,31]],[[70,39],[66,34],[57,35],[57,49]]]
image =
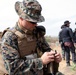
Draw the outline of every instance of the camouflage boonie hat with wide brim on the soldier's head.
[[[31,22],[43,22],[42,7],[37,0],[23,0],[15,3],[15,10],[19,17]]]

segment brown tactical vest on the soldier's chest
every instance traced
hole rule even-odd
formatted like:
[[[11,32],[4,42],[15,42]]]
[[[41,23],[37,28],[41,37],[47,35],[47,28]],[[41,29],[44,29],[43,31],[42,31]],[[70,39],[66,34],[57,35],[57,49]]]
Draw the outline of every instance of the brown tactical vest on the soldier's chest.
[[[16,36],[18,37],[18,47],[19,47],[18,52],[19,52],[21,58],[24,58],[25,56],[31,55],[36,52],[36,46],[37,46],[36,37],[33,37],[33,35],[26,35],[26,34],[20,32],[19,30],[17,30],[16,28],[14,28],[13,30],[10,30],[10,31],[13,32],[14,34],[16,34]],[[37,51],[39,52],[40,50],[37,49]],[[41,52],[39,52],[39,54],[42,55]],[[2,60],[2,62],[4,62],[4,61]],[[1,75],[4,75],[4,74],[8,75],[8,72],[6,71],[6,69],[4,67],[4,63],[3,63],[2,67],[3,67],[3,71],[2,71],[3,74],[1,73]]]

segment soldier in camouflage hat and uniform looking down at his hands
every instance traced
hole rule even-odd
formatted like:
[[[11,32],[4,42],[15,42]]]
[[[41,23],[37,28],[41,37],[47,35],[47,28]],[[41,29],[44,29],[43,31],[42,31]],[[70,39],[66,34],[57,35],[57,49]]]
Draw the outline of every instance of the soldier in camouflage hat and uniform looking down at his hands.
[[[44,21],[41,5],[37,0],[23,0],[15,3],[15,10],[18,22],[3,34],[1,45],[8,75],[51,75],[43,69],[52,62],[59,64],[61,55],[51,50],[45,28],[37,24]]]

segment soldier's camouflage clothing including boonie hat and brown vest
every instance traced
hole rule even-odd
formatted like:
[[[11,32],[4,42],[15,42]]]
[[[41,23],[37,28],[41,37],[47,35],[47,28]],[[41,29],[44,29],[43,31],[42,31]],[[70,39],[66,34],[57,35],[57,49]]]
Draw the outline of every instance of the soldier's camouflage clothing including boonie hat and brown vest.
[[[31,22],[44,21],[43,16],[41,16],[41,5],[36,0],[16,2],[15,10],[19,17],[25,20]],[[44,36],[37,38],[33,31],[20,27],[18,23],[3,34],[2,56],[9,75],[43,75],[43,64],[38,58],[37,51],[39,50],[36,47],[37,39],[42,42],[43,50],[50,50]]]

